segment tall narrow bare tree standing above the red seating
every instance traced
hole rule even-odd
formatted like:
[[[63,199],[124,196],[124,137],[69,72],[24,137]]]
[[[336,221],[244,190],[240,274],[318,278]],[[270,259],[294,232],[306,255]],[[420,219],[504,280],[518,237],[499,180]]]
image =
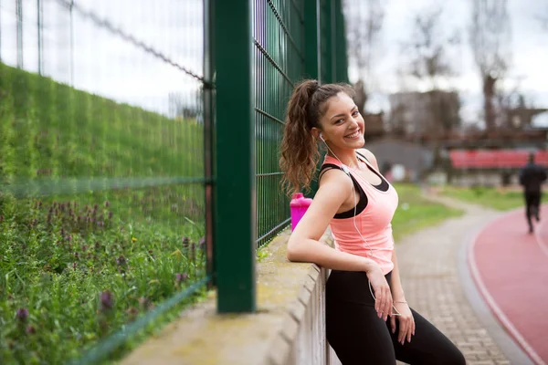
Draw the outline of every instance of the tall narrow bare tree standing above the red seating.
[[[483,110],[488,130],[495,128],[494,97],[511,60],[511,27],[507,0],[472,0],[470,45],[483,90]]]

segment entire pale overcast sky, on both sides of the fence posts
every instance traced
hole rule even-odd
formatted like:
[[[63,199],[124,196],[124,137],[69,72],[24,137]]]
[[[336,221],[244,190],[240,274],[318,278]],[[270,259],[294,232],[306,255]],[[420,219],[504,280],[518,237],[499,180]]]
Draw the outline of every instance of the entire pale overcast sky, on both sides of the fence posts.
[[[136,47],[121,36],[95,26],[88,17],[73,12],[71,52],[70,16],[61,0],[42,0],[44,8],[43,74],[107,98],[169,114],[170,93],[188,96],[200,82]],[[364,0],[353,0],[364,4]],[[471,0],[381,0],[385,22],[375,57],[368,110],[389,110],[387,95],[401,89],[397,77],[402,62],[400,44],[409,41],[416,12],[442,4],[443,31],[458,31],[461,45],[450,53],[458,76],[448,81],[461,99],[461,116],[478,120],[481,85],[468,42]],[[495,0],[499,1],[499,0]],[[24,68],[37,72],[37,0],[22,0]],[[201,0],[78,0],[101,19],[142,40],[177,66],[202,75],[203,10]],[[511,14],[511,68],[503,84],[517,86],[535,106],[548,107],[548,29],[535,16],[548,16],[548,0],[508,0]],[[349,45],[349,47],[352,47]],[[0,57],[16,66],[16,0],[0,2]],[[72,57],[71,57],[72,55]],[[349,70],[351,80],[355,69]],[[421,85],[409,84],[409,89]],[[193,102],[193,100],[186,100]],[[547,121],[548,123],[548,121]]]

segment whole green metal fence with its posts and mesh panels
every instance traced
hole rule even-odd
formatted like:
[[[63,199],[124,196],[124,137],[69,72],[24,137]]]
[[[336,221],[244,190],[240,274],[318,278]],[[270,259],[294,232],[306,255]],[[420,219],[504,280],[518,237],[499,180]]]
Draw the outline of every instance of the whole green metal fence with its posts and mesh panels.
[[[3,0],[0,35],[0,359],[121,355],[207,287],[254,311],[291,90],[346,81],[341,0]]]

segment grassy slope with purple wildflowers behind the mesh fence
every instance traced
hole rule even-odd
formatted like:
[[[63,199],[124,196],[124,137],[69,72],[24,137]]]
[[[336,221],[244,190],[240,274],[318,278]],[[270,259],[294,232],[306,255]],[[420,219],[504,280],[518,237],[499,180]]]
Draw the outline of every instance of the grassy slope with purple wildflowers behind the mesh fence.
[[[203,183],[117,180],[199,178],[203,145],[193,120],[0,64],[0,362],[75,359],[204,276]]]

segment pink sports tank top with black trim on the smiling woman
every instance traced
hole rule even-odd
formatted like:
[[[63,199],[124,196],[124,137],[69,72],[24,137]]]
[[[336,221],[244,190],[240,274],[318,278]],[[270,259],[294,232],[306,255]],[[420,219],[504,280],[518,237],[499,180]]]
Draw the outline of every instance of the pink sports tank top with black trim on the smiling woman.
[[[381,178],[381,183],[379,185],[367,183],[362,176],[351,171],[350,177],[354,188],[356,193],[360,195],[360,200],[355,208],[355,226],[354,208],[352,208],[349,211],[335,214],[330,223],[330,228],[336,249],[371,258],[381,266],[383,273],[386,275],[394,268],[392,262],[394,240],[391,222],[397,208],[398,196],[394,187],[386,181],[380,172],[374,169],[365,156],[360,152],[356,153],[358,159]],[[329,169],[342,170],[342,162],[326,155],[321,166],[321,172]],[[364,238],[356,231],[356,227],[361,231]],[[364,243],[364,239],[369,245]]]

